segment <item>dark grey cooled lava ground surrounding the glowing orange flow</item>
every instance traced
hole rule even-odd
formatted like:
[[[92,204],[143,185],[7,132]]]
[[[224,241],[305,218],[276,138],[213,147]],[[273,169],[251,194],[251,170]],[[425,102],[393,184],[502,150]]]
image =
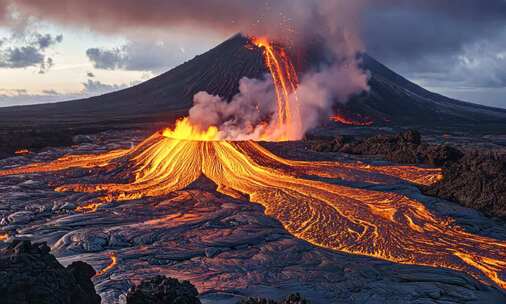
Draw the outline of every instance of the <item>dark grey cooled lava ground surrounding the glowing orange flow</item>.
[[[52,148],[0,161],[0,168],[55,159],[66,153],[98,153],[130,147],[142,132],[110,132],[89,143]],[[271,144],[275,152],[317,159],[303,145]],[[289,153],[286,153],[289,151]],[[334,155],[333,157],[341,157]],[[45,241],[58,260],[84,261],[100,270],[93,281],[103,303],[122,303],[134,284],[156,275],[189,280],[202,303],[236,303],[248,297],[281,299],[300,293],[312,303],[502,303],[504,292],[466,274],[399,265],[324,250],[287,233],[247,200],[215,191],[201,179],[165,197],[111,203],[92,213],[75,208],[99,194],[57,193],[58,179],[87,180],[86,170],[0,178],[0,230],[11,238]],[[358,186],[358,185],[357,185]],[[413,185],[367,186],[403,193],[465,229],[496,239],[506,225],[479,212],[423,196]],[[1,245],[0,245],[1,246]]]

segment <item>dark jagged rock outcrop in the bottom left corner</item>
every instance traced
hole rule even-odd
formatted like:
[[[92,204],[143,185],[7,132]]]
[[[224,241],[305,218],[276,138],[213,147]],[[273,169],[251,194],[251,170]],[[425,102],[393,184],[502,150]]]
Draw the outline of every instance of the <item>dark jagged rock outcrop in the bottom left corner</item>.
[[[15,241],[0,252],[0,302],[3,304],[100,304],[82,262],[63,267],[45,243]]]

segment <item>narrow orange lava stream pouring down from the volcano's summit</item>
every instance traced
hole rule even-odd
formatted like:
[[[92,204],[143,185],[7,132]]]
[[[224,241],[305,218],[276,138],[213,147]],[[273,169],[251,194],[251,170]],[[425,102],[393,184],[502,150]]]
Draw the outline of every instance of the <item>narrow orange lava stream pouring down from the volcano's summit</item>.
[[[276,141],[290,140],[298,137],[300,129],[300,108],[297,97],[299,79],[285,49],[273,45],[267,38],[252,38],[252,43],[261,48],[264,62],[271,74],[276,93],[276,131],[268,139]],[[281,133],[279,133],[281,131]]]

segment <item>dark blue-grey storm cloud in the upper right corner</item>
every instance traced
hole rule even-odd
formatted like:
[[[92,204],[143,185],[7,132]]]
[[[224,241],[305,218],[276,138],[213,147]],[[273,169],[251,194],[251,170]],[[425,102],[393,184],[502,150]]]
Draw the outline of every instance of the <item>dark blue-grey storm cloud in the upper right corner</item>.
[[[364,11],[363,37],[371,51],[397,60],[454,54],[506,26],[504,0],[380,1]]]

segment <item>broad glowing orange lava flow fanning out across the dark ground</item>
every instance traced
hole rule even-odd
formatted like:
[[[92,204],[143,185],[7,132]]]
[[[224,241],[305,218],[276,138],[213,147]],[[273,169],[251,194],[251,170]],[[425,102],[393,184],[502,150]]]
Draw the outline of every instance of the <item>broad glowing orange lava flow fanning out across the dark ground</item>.
[[[132,176],[130,183],[56,189],[103,193],[101,201],[106,203],[167,195],[204,175],[219,192],[249,197],[287,231],[314,245],[401,264],[450,268],[506,289],[505,241],[468,233],[398,193],[322,181],[384,184],[403,179],[431,184],[441,178],[439,169],[292,161],[255,142],[180,140],[164,134],[173,133],[154,134],[129,150],[66,156],[0,171],[0,176],[116,166]],[[112,259],[107,270],[116,265]]]

